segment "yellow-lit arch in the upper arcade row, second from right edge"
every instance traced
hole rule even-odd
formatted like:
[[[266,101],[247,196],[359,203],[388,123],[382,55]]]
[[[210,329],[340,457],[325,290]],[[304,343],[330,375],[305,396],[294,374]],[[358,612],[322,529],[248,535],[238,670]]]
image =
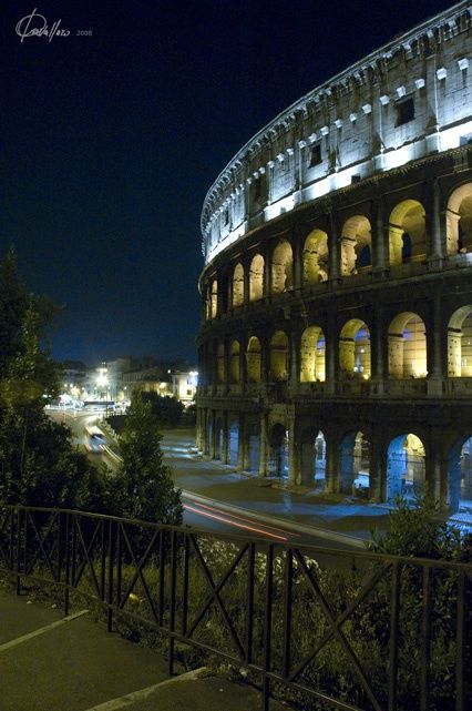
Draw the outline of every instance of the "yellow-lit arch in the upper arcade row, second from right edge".
[[[425,212],[418,200],[403,200],[392,210],[389,220],[389,253],[392,266],[424,257]]]

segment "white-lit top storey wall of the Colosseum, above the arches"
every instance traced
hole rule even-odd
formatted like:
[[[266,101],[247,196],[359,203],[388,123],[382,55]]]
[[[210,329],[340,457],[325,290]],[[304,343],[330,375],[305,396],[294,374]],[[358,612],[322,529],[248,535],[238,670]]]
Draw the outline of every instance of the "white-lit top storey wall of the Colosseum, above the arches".
[[[205,261],[297,206],[472,139],[471,9],[372,52],[255,135],[208,191]]]

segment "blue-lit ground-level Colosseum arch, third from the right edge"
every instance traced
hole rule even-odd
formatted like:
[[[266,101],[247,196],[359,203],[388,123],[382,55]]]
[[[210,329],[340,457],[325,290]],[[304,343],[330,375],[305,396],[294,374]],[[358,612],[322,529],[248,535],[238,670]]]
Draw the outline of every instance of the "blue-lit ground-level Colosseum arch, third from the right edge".
[[[368,498],[370,487],[370,441],[362,431],[347,434],[340,446],[341,491]]]

